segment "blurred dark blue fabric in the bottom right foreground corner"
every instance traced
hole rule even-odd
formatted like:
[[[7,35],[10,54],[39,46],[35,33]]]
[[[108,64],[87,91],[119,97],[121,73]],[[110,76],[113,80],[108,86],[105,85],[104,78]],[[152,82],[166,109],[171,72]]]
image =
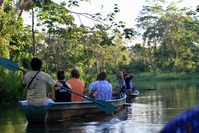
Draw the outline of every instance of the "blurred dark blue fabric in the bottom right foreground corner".
[[[199,133],[199,105],[173,118],[160,133]]]

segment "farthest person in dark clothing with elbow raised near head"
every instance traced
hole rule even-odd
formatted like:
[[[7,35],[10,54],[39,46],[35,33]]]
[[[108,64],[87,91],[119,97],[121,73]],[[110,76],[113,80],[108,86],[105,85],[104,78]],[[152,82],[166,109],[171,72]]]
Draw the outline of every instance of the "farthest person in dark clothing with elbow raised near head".
[[[124,80],[126,83],[126,94],[131,94],[133,92],[133,83],[132,83],[132,78],[134,76],[132,74],[124,74]]]

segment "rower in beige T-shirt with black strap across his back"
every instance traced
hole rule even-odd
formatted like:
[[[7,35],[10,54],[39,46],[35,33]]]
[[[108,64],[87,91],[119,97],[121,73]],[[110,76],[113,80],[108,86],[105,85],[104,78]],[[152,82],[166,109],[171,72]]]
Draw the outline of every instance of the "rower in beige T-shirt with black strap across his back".
[[[41,71],[42,61],[39,58],[31,60],[31,71],[24,70],[22,84],[27,88],[27,103],[33,106],[48,106],[54,101],[46,96],[46,85],[49,84],[54,91],[56,81]]]

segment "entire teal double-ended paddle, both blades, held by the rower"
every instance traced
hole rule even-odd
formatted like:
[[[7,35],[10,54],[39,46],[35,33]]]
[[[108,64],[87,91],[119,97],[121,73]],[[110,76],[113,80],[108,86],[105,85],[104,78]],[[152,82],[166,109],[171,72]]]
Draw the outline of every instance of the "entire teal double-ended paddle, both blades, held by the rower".
[[[12,60],[9,60],[9,59],[6,59],[6,58],[0,58],[0,65],[5,67],[5,68],[7,68],[7,69],[9,69],[9,70],[11,70],[11,71],[18,71],[18,70],[23,71],[23,69],[21,69],[16,62],[14,62]],[[115,111],[115,107],[112,104],[110,104],[109,102],[106,102],[104,100],[93,100],[93,99],[85,97],[85,96],[83,96],[83,95],[81,95],[79,93],[71,91],[68,88],[65,88],[65,87],[62,87],[62,88],[66,89],[69,92],[74,93],[74,94],[76,94],[76,95],[78,95],[80,97],[83,97],[83,98],[85,98],[85,99],[87,99],[89,101],[92,101],[98,109],[100,109],[100,110],[102,110],[104,112],[113,113]]]

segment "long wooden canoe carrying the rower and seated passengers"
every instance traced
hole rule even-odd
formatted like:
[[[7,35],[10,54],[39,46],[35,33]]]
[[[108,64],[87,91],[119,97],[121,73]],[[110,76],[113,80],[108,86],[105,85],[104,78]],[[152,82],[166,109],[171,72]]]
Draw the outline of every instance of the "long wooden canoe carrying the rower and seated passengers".
[[[126,103],[126,96],[122,99],[107,101],[115,106],[115,112],[121,110]],[[105,113],[98,109],[92,101],[83,102],[56,102],[49,106],[30,106],[26,101],[19,101],[19,105],[26,115],[27,121],[32,122],[57,122],[89,117]]]

